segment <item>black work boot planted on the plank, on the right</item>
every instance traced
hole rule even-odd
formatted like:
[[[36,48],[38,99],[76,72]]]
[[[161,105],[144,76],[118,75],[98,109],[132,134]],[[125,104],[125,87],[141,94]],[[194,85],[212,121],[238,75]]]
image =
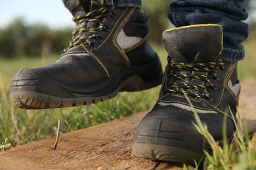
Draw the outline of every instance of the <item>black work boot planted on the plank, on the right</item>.
[[[135,156],[152,160],[194,163],[211,153],[196,129],[186,94],[209,133],[223,144],[223,120],[232,141],[240,83],[237,62],[218,58],[223,50],[221,25],[190,25],[163,33],[169,54],[160,98],[141,120],[133,141]]]

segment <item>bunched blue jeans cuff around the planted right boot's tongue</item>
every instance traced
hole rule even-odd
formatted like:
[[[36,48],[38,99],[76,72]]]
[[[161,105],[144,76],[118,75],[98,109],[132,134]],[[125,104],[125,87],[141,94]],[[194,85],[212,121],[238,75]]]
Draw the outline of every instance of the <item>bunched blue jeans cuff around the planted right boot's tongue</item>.
[[[220,14],[178,11],[170,12],[169,19],[176,27],[194,24],[219,24],[223,27],[223,52],[219,58],[225,61],[244,59],[243,42],[249,33],[248,25]]]

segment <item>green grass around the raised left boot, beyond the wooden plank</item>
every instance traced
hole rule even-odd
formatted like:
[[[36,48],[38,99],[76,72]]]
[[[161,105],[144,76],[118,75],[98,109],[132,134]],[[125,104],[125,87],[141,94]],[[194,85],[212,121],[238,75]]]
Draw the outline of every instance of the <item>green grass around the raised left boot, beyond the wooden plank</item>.
[[[0,150],[55,135],[58,117],[62,118],[61,133],[66,133],[148,110],[158,99],[160,86],[143,92],[119,93],[114,99],[95,105],[47,110],[13,107],[9,88],[14,74],[20,69],[54,63],[56,59],[58,56],[0,59]]]

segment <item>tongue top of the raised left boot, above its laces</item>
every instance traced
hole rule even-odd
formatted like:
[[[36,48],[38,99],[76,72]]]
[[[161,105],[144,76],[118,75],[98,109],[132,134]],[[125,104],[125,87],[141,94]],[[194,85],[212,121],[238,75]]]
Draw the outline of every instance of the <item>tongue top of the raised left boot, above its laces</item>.
[[[82,1],[80,0],[62,0],[65,7],[70,10],[74,17],[79,15],[85,15],[86,12],[83,9]]]

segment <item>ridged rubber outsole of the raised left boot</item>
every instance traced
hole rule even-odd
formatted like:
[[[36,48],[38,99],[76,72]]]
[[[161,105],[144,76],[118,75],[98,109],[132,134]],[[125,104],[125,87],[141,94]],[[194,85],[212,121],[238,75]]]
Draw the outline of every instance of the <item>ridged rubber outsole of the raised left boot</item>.
[[[150,82],[144,82],[139,75],[133,75],[127,78],[114,90],[114,92],[103,96],[61,98],[44,93],[32,91],[18,91],[18,87],[11,88],[11,100],[14,106],[21,109],[53,109],[58,107],[75,107],[81,105],[90,105],[99,103],[116,97],[119,92],[137,92],[153,88],[161,84],[161,77]]]

